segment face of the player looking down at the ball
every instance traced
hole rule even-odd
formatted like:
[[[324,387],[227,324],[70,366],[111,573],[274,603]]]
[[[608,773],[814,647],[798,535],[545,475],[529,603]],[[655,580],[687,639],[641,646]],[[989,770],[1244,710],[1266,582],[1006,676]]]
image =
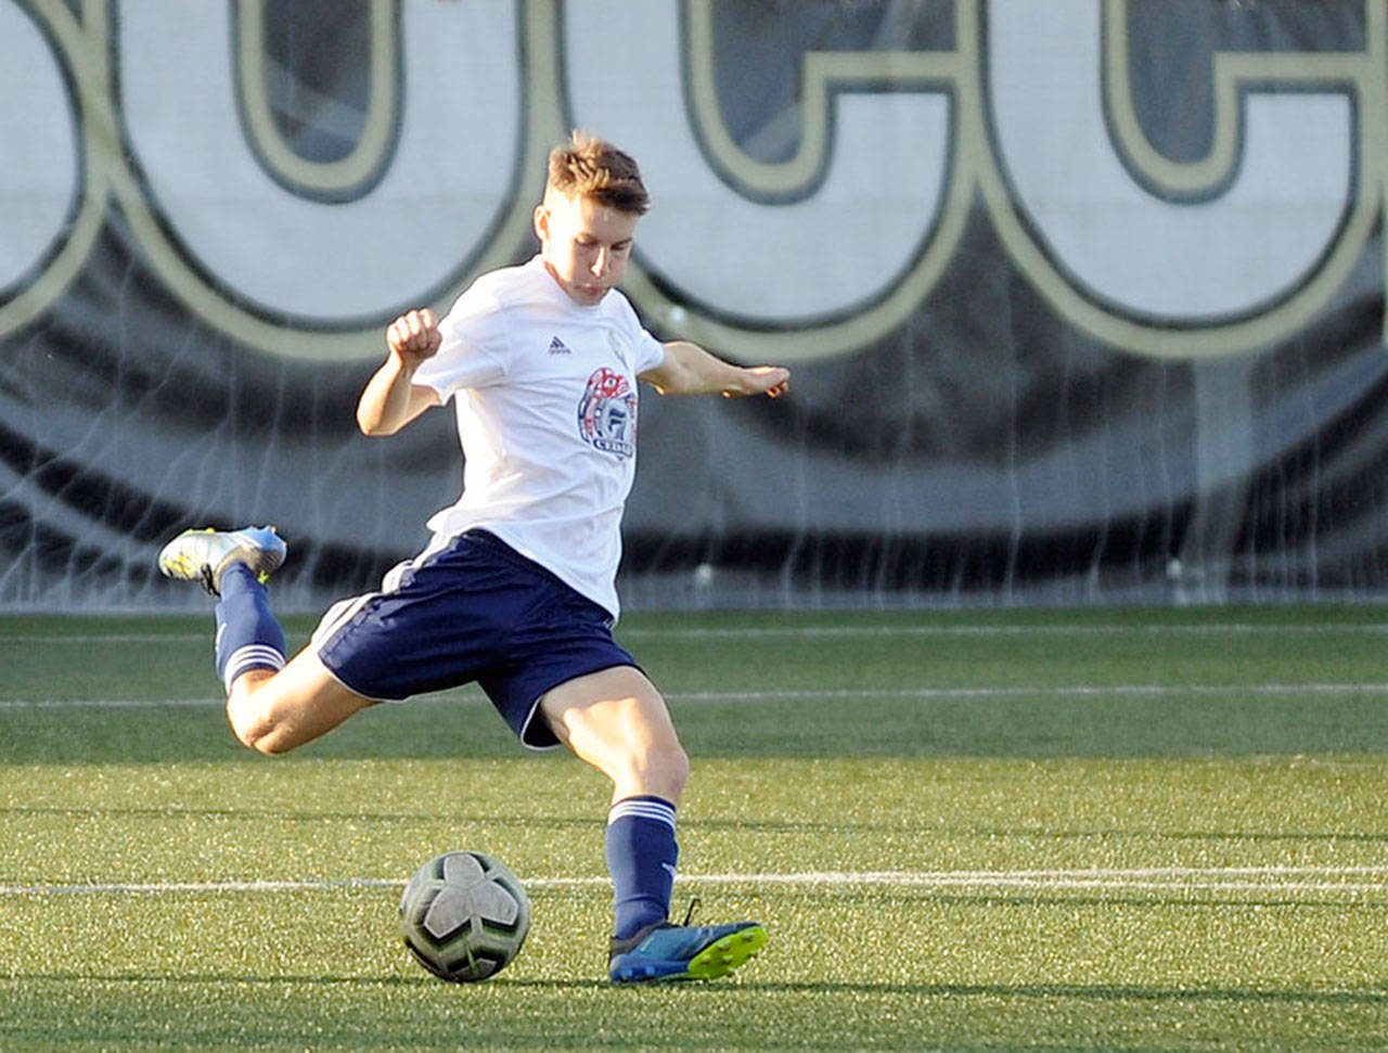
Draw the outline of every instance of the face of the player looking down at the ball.
[[[552,190],[534,209],[540,255],[570,300],[593,307],[620,284],[638,215]]]

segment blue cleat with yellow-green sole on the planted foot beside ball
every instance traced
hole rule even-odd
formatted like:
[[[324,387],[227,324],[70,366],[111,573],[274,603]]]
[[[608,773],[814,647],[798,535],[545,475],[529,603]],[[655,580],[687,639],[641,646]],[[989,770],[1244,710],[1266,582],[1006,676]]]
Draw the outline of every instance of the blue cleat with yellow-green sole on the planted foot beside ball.
[[[647,925],[627,939],[612,939],[608,978],[613,984],[715,979],[726,977],[766,945],[755,921],[727,925]]]

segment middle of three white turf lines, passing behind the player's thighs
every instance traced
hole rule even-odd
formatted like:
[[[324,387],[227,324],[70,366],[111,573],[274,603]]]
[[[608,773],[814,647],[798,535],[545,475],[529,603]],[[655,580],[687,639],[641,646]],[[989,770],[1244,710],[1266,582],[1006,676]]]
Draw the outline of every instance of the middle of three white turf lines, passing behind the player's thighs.
[[[786,702],[804,699],[826,702],[861,698],[901,699],[999,699],[999,698],[1103,698],[1103,696],[1152,696],[1170,695],[1348,695],[1388,694],[1388,683],[1374,684],[1072,684],[1063,687],[920,687],[920,688],[779,688],[775,691],[687,691],[666,692],[670,702]],[[459,702],[482,701],[482,694],[468,690],[462,696],[422,698],[407,705],[457,705]],[[221,708],[221,698],[4,698],[0,712],[7,709],[160,709],[160,708]]]

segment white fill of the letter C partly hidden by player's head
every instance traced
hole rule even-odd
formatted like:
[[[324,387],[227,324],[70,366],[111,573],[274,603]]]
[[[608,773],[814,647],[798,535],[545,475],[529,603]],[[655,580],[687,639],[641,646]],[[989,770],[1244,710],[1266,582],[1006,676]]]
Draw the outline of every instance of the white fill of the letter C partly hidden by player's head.
[[[654,205],[640,262],[754,323],[808,323],[886,294],[924,248],[949,157],[942,93],[838,93],[831,157],[811,196],[758,203],[709,171],[682,83],[677,0],[569,0],[575,123],[630,151]]]

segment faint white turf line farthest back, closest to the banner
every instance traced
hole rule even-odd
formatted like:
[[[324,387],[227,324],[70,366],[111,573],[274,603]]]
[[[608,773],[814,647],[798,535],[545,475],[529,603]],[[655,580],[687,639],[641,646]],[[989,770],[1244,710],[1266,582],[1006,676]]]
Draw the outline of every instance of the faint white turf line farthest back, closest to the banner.
[[[823,640],[833,637],[1119,637],[1119,635],[1385,635],[1388,623],[1299,623],[1259,624],[1256,622],[1212,622],[1184,626],[748,626],[748,627],[629,627],[618,631],[623,640],[758,640],[766,637]],[[205,633],[0,633],[0,645],[75,644],[161,644],[210,642]]]

